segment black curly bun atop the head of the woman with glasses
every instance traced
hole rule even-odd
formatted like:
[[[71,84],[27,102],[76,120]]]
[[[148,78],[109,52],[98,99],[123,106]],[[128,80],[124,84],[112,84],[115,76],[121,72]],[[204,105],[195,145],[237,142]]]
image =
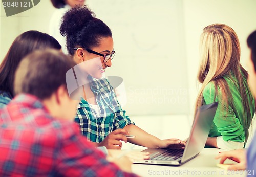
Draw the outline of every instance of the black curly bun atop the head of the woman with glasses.
[[[75,6],[68,10],[62,17],[60,34],[66,36],[76,33],[94,18],[95,13],[88,6]]]

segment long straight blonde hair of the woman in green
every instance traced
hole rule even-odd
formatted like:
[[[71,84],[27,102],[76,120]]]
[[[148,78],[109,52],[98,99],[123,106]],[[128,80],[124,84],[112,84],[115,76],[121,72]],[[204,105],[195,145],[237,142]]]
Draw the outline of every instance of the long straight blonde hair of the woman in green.
[[[203,29],[200,38],[200,67],[198,71],[198,81],[202,83],[196,100],[196,108],[204,104],[203,90],[210,82],[215,86],[215,98],[220,90],[220,102],[223,105],[233,103],[233,98],[227,81],[223,78],[229,76],[234,83],[237,83],[238,90],[242,97],[242,103],[245,108],[243,113],[246,141],[248,138],[248,129],[252,119],[250,114],[250,104],[247,94],[251,95],[247,81],[243,79],[248,77],[247,71],[240,64],[240,44],[236,32],[224,24],[212,24]],[[233,77],[237,80],[234,81]],[[215,99],[214,99],[215,100]],[[251,100],[252,101],[252,100]],[[225,115],[223,115],[225,117]]]

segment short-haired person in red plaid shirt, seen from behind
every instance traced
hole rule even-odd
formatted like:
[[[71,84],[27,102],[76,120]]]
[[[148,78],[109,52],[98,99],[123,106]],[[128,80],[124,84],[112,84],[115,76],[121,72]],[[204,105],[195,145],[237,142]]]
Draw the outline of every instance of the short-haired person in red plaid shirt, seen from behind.
[[[127,158],[109,162],[80,135],[65,78],[74,65],[50,49],[20,62],[18,95],[0,110],[0,176],[136,176]]]

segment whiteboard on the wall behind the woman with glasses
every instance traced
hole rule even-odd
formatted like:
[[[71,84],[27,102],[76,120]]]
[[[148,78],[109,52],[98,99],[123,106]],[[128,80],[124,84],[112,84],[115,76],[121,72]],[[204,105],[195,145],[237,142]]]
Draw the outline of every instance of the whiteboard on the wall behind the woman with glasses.
[[[87,3],[112,30],[116,55],[106,75],[123,78],[127,114],[188,114],[182,1]]]

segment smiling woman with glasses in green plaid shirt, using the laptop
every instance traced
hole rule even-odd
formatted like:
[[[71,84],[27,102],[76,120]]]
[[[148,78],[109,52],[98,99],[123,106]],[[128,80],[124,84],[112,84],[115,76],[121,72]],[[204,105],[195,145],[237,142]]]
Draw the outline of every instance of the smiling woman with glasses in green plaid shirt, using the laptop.
[[[113,87],[106,78],[102,78],[105,69],[111,67],[115,54],[112,32],[103,21],[95,18],[87,6],[75,7],[66,12],[60,32],[67,36],[69,55],[77,64],[84,62],[89,74],[76,75],[77,79],[86,78],[90,83],[82,86],[84,94],[75,117],[83,136],[96,146],[106,146],[108,149],[120,149],[120,140],[129,140],[145,147],[184,147],[186,143],[179,139],[160,140],[148,134],[125,115]],[[96,63],[91,62],[94,60]],[[136,138],[127,139],[125,135],[129,134]]]

